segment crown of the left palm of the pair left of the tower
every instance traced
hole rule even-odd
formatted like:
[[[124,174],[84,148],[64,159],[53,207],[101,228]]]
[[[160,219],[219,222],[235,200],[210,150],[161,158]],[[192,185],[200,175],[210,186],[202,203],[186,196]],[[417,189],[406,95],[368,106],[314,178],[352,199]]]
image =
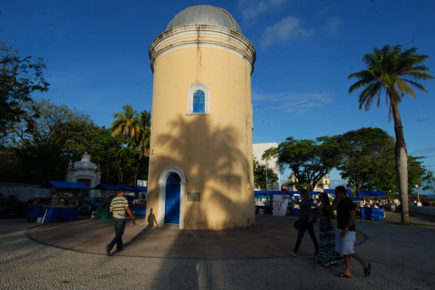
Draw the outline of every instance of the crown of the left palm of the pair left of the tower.
[[[124,135],[127,140],[138,140],[140,133],[140,115],[138,115],[136,110],[133,110],[131,105],[123,105],[122,109],[122,112],[113,114],[116,120],[110,123],[112,136]]]

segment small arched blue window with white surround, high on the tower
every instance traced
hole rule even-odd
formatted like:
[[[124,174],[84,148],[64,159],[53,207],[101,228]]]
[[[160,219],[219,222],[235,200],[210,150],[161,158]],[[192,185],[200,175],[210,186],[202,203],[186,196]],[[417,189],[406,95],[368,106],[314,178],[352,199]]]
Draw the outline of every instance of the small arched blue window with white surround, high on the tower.
[[[210,90],[203,83],[194,83],[187,92],[187,114],[210,114]]]

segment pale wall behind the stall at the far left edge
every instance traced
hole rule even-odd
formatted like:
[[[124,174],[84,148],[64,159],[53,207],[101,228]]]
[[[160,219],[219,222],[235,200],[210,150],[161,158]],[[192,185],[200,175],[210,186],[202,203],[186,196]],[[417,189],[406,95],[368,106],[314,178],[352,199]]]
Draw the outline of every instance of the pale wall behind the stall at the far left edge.
[[[27,202],[32,197],[49,197],[50,190],[39,188],[40,184],[31,183],[0,183],[0,193],[4,197],[13,195],[20,202]]]

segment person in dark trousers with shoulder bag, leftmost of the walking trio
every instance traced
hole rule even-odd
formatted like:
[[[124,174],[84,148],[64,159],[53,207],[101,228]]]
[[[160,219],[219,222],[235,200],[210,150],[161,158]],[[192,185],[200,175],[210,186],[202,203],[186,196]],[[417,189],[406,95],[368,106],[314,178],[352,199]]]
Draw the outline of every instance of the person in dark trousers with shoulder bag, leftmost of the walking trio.
[[[316,258],[319,255],[319,244],[317,244],[316,235],[314,234],[314,218],[311,213],[312,202],[309,200],[309,192],[308,190],[300,190],[300,194],[302,195],[302,202],[298,202],[293,197],[290,197],[291,201],[295,204],[299,204],[300,213],[299,213],[299,229],[297,230],[297,240],[295,244],[295,248],[293,248],[293,252],[288,253],[290,256],[297,256],[297,251],[299,250],[300,243],[302,242],[302,237],[304,237],[305,230],[308,231],[309,237],[311,237],[314,244],[314,255],[313,258]]]

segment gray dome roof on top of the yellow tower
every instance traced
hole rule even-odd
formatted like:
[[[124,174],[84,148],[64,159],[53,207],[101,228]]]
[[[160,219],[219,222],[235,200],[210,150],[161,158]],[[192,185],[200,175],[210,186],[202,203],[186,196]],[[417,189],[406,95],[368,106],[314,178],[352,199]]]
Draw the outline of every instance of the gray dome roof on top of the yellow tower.
[[[241,33],[239,24],[224,8],[210,5],[197,5],[181,11],[170,20],[166,31],[182,25],[206,24],[226,27]]]

